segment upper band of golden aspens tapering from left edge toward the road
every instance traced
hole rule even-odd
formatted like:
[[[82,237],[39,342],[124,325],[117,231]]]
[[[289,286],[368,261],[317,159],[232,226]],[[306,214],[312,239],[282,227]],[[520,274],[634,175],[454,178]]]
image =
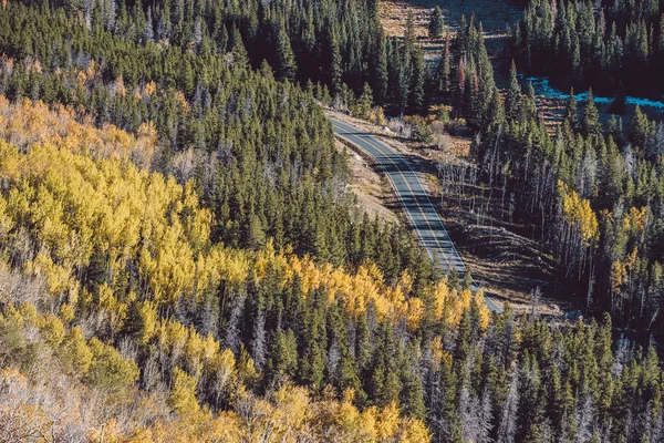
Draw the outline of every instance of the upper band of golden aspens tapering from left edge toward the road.
[[[349,313],[373,303],[378,318],[405,318],[413,330],[425,313],[422,300],[407,298],[413,285],[407,272],[391,286],[372,262],[349,272],[278,253],[271,241],[256,253],[212,246],[211,214],[199,206],[193,183],[179,185],[131,162],[134,151],[154,151],[149,124],[133,136],[82,125],[63,107],[50,111],[28,100],[10,105],[2,97],[0,138],[10,142],[0,142],[0,181],[9,189],[0,193],[0,231],[11,238],[29,228],[38,254],[25,261],[25,271],[43,276],[53,296],[68,295],[70,301],[80,295],[75,276],[102,257],[107,272],[96,308],[106,312],[112,331],[123,327],[131,300],[113,293],[111,284],[129,261],[152,309],[198,298],[222,281],[245,282],[250,269],[259,280],[272,269],[282,285],[298,276],[305,297],[322,288],[330,301],[343,299]],[[450,292],[446,284],[435,292],[437,320],[457,323],[471,295]]]

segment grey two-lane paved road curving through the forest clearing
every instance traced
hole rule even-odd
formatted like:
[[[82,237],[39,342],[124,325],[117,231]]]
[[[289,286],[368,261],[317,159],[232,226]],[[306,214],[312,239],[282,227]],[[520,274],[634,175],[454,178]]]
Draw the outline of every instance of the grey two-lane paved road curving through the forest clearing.
[[[330,121],[334,126],[336,136],[360,147],[374,157],[383,167],[405,208],[411,224],[417,230],[421,243],[432,258],[437,259],[443,271],[450,272],[456,269],[463,278],[466,274],[466,265],[464,265],[464,260],[461,260],[459,253],[449,238],[449,234],[447,234],[438,212],[419,182],[419,177],[408,162],[385,143],[372,136],[371,133],[332,117],[330,117]],[[475,282],[473,282],[473,287],[475,290],[478,289]],[[502,312],[502,308],[489,297],[485,296],[485,302],[489,310]]]

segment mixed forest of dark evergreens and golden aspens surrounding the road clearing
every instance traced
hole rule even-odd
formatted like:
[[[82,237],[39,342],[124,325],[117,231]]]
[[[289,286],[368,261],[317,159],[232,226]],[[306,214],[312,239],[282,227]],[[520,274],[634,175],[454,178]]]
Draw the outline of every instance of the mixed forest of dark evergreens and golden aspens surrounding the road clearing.
[[[544,125],[517,66],[554,4],[528,6],[500,90],[481,23],[437,9],[429,70],[377,0],[2,1],[0,440],[662,441],[664,126],[592,93]],[[589,11],[656,41],[630,4]],[[433,102],[585,320],[489,313],[355,206],[321,104],[415,115],[426,143]]]

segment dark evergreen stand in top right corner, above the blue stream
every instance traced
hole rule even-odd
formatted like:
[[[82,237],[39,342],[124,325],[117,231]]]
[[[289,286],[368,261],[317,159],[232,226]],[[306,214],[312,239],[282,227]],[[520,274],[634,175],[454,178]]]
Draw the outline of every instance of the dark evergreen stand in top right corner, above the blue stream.
[[[533,0],[512,34],[519,68],[554,83],[625,94],[661,95],[664,3],[657,0]]]

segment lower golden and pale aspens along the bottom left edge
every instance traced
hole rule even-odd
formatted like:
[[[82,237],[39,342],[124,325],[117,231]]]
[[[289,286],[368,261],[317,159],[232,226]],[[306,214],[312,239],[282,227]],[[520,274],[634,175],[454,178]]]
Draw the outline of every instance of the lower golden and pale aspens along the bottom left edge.
[[[60,340],[53,341],[53,336],[60,336],[60,332],[53,331],[61,329],[52,326],[61,324],[60,320],[50,313],[38,312],[31,303],[6,307],[0,320],[2,328],[23,328],[25,331],[41,326],[39,330],[44,342],[54,343]],[[100,405],[102,409],[97,411],[98,416],[104,416],[101,421],[90,421],[89,418],[94,414],[87,411],[83,415],[80,403],[70,405],[71,399],[62,399],[62,403],[56,406],[70,405],[66,413],[56,409],[58,413],[54,414],[52,408],[55,405],[50,403],[52,398],[40,391],[43,384],[32,384],[20,372],[6,369],[0,372],[0,396],[11,408],[0,402],[0,424],[4,425],[0,430],[0,436],[4,435],[2,432],[7,434],[8,430],[39,436],[87,420],[82,430],[85,430],[87,440],[97,442],[240,442],[262,439],[266,442],[292,443],[302,440],[425,443],[430,439],[424,423],[402,416],[394,402],[384,408],[372,406],[360,411],[353,404],[352,390],[346,390],[341,400],[333,395],[319,399],[307,388],[286,383],[268,398],[257,398],[247,392],[239,381],[240,368],[232,352],[221,351],[211,337],[203,338],[195,330],[176,322],[162,322],[156,334],[163,336],[159,342],[167,356],[173,361],[183,363],[183,367],[176,367],[172,373],[172,388],[167,399],[159,400],[158,393],[138,396],[127,390],[138,375],[135,363],[96,338],[86,342],[81,329],[73,327],[64,333],[56,348],[55,357],[63,372],[74,375],[74,380],[82,379],[106,392],[121,395],[112,396],[112,402],[106,401]],[[207,406],[199,405],[196,396],[198,378],[193,361],[201,362],[206,372],[205,380],[216,377],[218,389],[237,395],[232,400],[232,411],[215,414]],[[248,361],[242,364],[251,365]],[[69,389],[75,385],[74,382]],[[30,392],[34,396],[25,394]],[[41,402],[42,399],[46,399],[49,403]],[[102,412],[114,404],[117,408],[131,408],[132,421],[121,423],[108,419],[113,415]],[[168,410],[165,411],[165,408]],[[175,414],[170,414],[169,410]]]

